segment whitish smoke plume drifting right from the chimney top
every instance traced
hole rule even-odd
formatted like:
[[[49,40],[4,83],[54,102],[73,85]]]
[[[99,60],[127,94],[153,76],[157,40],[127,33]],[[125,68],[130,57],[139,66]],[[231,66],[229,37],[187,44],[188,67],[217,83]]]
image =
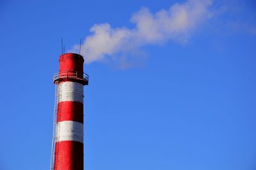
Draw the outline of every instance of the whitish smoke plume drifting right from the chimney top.
[[[135,24],[133,29],[95,24],[90,29],[92,35],[82,43],[81,54],[86,63],[92,63],[127,57],[144,45],[163,44],[169,40],[186,42],[200,24],[211,17],[211,4],[212,0],[188,0],[156,13],[141,8],[131,17]],[[79,45],[74,45],[70,51],[79,51]]]

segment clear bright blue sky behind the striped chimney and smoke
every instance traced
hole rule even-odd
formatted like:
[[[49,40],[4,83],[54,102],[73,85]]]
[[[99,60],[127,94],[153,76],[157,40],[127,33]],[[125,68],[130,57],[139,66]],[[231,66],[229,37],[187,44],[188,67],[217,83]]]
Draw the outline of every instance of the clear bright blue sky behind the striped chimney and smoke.
[[[49,169],[61,38],[88,55],[85,169],[255,169],[256,3],[193,2],[210,3],[150,41],[132,16],[186,1],[0,1],[0,169]],[[104,23],[132,36],[88,52]]]

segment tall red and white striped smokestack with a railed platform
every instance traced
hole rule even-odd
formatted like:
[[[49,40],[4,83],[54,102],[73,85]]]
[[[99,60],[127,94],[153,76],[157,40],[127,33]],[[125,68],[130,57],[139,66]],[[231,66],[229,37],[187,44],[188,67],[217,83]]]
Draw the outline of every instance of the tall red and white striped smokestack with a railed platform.
[[[83,86],[88,85],[88,75],[79,54],[62,54],[59,62],[60,71],[54,74],[57,100],[51,169],[83,170]]]

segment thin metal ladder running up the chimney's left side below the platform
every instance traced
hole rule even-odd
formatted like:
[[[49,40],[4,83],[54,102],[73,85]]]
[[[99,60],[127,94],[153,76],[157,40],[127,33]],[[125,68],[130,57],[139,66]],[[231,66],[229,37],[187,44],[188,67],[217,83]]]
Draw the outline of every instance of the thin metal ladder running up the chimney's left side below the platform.
[[[52,127],[52,150],[51,150],[51,165],[50,170],[54,170],[54,160],[55,160],[55,144],[56,144],[56,118],[58,112],[58,102],[59,102],[59,91],[58,91],[58,82],[55,83],[55,99],[54,99],[54,112],[53,112],[53,127]]]

